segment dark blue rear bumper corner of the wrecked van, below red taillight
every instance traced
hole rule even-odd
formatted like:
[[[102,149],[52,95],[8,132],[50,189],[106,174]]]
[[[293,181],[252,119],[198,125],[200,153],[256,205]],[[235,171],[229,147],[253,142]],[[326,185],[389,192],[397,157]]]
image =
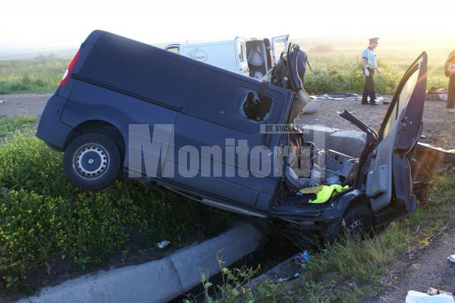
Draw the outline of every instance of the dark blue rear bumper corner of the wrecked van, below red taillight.
[[[50,97],[48,103],[45,104],[35,135],[47,143],[50,148],[60,151],[65,149],[66,139],[73,130],[73,127],[60,121],[67,100],[56,94]]]

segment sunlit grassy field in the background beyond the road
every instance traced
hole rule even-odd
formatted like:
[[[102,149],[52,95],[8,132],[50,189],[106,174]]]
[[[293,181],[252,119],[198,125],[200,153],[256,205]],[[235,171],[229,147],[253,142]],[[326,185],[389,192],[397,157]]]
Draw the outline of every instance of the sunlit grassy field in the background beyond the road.
[[[421,50],[378,49],[378,65],[382,77],[376,77],[380,94],[395,91],[407,67]],[[307,51],[314,72],[306,73],[306,89],[311,94],[363,91],[360,72],[360,51],[352,49],[309,48]],[[427,50],[429,54],[428,86],[444,88],[444,62],[449,49]],[[43,56],[42,60],[0,61],[0,94],[54,92],[62,78],[68,59]]]

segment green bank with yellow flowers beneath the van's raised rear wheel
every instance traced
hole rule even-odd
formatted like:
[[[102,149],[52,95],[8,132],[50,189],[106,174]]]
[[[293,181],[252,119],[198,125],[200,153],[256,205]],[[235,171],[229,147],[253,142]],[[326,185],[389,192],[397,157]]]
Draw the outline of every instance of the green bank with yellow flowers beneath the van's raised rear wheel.
[[[186,236],[213,236],[230,221],[228,212],[132,181],[82,192],[66,180],[62,154],[31,135],[18,133],[0,145],[0,278],[6,289],[26,287],[31,273],[52,270],[55,260],[84,269],[116,251],[127,257],[133,236],[144,248],[162,240],[178,247]]]

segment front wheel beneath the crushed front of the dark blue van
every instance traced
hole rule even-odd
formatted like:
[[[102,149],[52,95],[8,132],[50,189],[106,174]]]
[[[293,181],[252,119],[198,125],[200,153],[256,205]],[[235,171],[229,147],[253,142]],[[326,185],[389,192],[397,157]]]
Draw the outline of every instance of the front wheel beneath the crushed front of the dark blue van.
[[[326,226],[323,236],[326,243],[333,244],[342,238],[364,238],[373,232],[375,215],[370,207],[354,202],[343,218]]]

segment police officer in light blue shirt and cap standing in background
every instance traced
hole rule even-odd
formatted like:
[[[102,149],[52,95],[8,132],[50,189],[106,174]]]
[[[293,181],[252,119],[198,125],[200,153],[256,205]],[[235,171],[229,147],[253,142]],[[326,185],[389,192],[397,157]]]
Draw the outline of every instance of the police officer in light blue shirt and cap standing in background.
[[[363,96],[362,104],[368,104],[368,97],[370,97],[370,104],[376,105],[376,91],[375,91],[375,82],[373,80],[373,75],[378,72],[378,76],[381,76],[381,71],[376,65],[376,54],[375,48],[378,47],[378,37],[368,39],[370,45],[368,48],[365,48],[362,52],[362,67],[363,75],[365,76],[365,86],[363,87]]]

